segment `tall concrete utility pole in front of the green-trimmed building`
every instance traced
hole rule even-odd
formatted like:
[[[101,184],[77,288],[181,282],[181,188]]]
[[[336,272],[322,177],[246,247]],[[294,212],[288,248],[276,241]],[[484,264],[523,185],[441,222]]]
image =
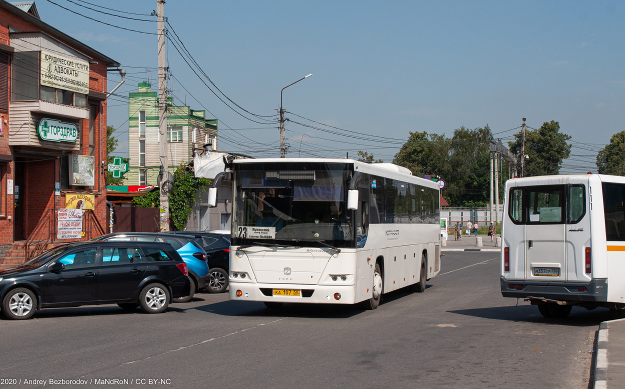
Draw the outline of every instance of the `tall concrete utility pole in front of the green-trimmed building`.
[[[167,158],[167,79],[165,61],[165,0],[156,0],[156,17],[158,19],[158,144],[161,163],[161,231],[169,231],[169,195],[165,190],[168,181]]]

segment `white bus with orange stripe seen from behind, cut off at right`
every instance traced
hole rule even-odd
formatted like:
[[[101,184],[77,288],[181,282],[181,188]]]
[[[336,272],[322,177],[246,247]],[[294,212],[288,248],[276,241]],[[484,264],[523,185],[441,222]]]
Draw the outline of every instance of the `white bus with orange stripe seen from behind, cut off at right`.
[[[574,305],[625,312],[625,177],[510,179],[502,225],[501,294],[543,316]]]

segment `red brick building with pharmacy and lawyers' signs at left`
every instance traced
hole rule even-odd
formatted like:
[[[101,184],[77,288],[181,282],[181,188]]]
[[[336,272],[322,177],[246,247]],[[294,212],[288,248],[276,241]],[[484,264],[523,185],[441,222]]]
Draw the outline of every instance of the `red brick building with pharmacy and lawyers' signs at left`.
[[[107,69],[118,66],[41,21],[34,2],[0,0],[0,264],[5,267],[106,229]],[[63,208],[84,209],[84,238],[59,238]]]

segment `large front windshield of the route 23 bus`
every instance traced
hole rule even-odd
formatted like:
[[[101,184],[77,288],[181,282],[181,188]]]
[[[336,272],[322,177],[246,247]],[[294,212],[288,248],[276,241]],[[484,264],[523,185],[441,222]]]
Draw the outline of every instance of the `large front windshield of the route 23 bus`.
[[[232,245],[355,247],[346,205],[352,170],[344,163],[235,164]]]

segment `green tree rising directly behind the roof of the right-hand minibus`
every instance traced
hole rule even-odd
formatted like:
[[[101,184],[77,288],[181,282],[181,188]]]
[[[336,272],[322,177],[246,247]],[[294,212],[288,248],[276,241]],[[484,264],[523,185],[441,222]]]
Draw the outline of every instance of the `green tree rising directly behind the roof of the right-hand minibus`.
[[[566,142],[570,135],[559,132],[560,124],[557,121],[546,121],[541,128],[526,130],[525,176],[547,176],[559,174],[562,160],[569,158],[571,145]],[[514,141],[508,142],[510,151],[521,154],[522,131],[514,134]]]

